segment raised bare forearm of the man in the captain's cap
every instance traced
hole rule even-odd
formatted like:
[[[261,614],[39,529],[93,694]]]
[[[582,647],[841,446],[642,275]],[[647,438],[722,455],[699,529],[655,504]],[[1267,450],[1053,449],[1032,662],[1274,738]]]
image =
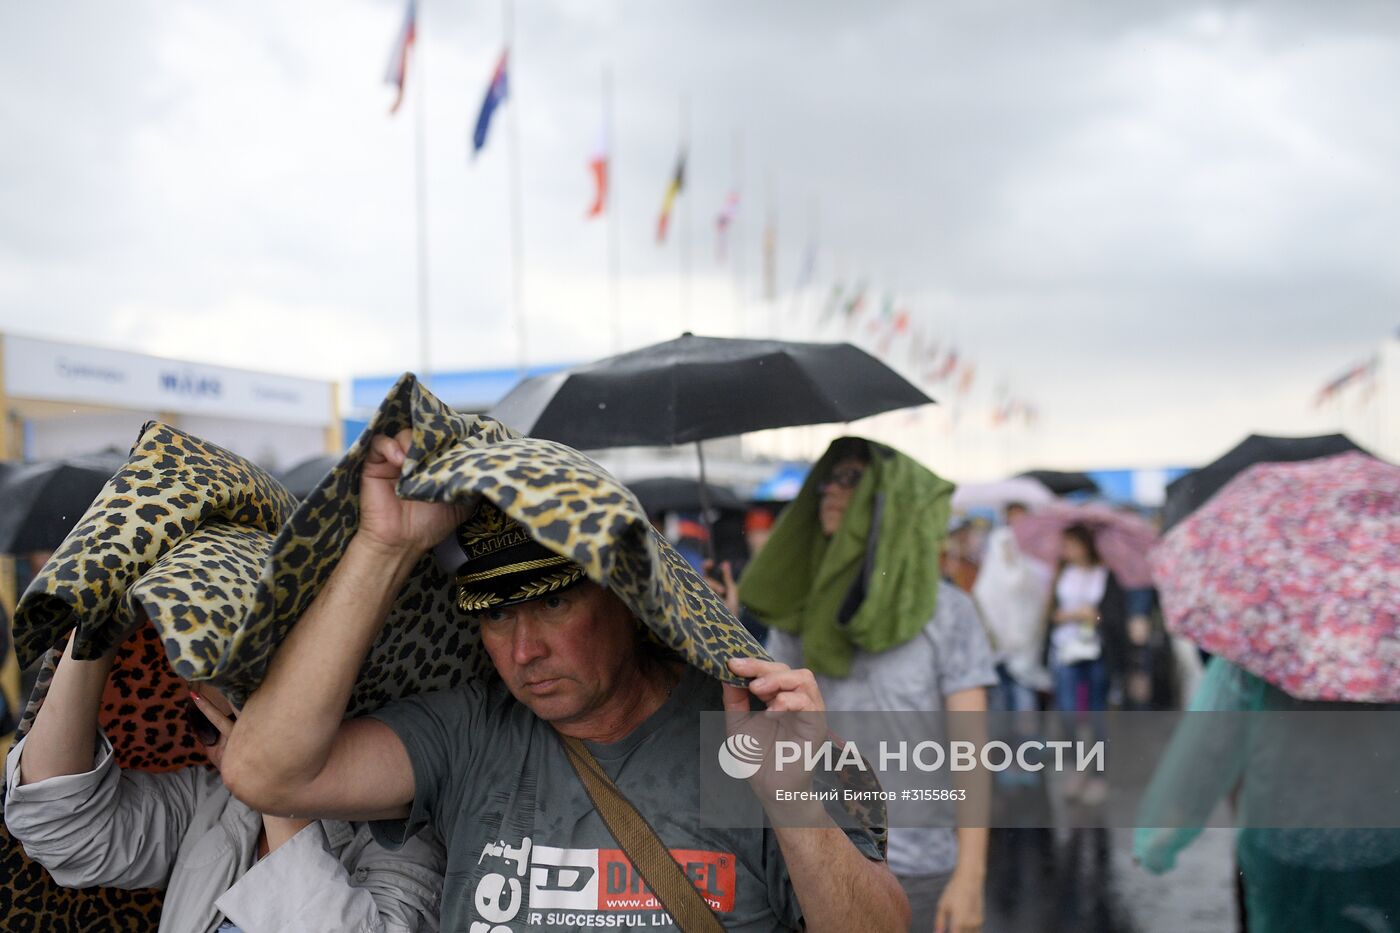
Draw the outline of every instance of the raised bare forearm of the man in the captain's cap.
[[[298,786],[325,766],[360,665],[417,555],[356,537],[248,698],[224,758],[225,779]]]

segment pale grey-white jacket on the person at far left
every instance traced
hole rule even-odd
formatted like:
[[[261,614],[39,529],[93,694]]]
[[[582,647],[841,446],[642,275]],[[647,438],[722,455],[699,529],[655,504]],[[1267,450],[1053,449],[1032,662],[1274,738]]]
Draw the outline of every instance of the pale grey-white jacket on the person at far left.
[[[122,770],[98,734],[92,770],[20,786],[6,759],[4,820],[64,887],[164,888],[161,933],[421,933],[438,929],[445,856],[423,836],[388,852],[364,824],[322,820],[260,862],[262,817],[203,768]]]

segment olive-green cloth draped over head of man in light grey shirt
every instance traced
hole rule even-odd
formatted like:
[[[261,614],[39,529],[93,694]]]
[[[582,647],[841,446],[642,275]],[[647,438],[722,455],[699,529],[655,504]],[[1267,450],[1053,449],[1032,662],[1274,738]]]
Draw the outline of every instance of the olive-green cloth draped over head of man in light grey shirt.
[[[857,650],[885,651],[928,623],[953,485],[876,444],[832,538],[822,534],[819,482],[841,458],[826,450],[739,583],[739,601],[764,625],[801,636],[804,664],[846,677]]]

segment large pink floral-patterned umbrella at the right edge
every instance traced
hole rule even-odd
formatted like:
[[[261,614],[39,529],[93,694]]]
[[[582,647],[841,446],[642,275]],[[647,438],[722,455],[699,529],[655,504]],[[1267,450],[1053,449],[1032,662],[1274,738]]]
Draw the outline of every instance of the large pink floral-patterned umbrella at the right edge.
[[[1257,464],[1152,553],[1170,630],[1298,699],[1400,700],[1400,466]]]

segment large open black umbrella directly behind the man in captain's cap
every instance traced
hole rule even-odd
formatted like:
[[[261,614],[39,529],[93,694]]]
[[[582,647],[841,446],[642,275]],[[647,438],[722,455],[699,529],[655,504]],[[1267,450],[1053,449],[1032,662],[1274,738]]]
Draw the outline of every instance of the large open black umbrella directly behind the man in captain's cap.
[[[854,422],[934,399],[850,343],[690,333],[526,380],[491,416],[581,450]]]

